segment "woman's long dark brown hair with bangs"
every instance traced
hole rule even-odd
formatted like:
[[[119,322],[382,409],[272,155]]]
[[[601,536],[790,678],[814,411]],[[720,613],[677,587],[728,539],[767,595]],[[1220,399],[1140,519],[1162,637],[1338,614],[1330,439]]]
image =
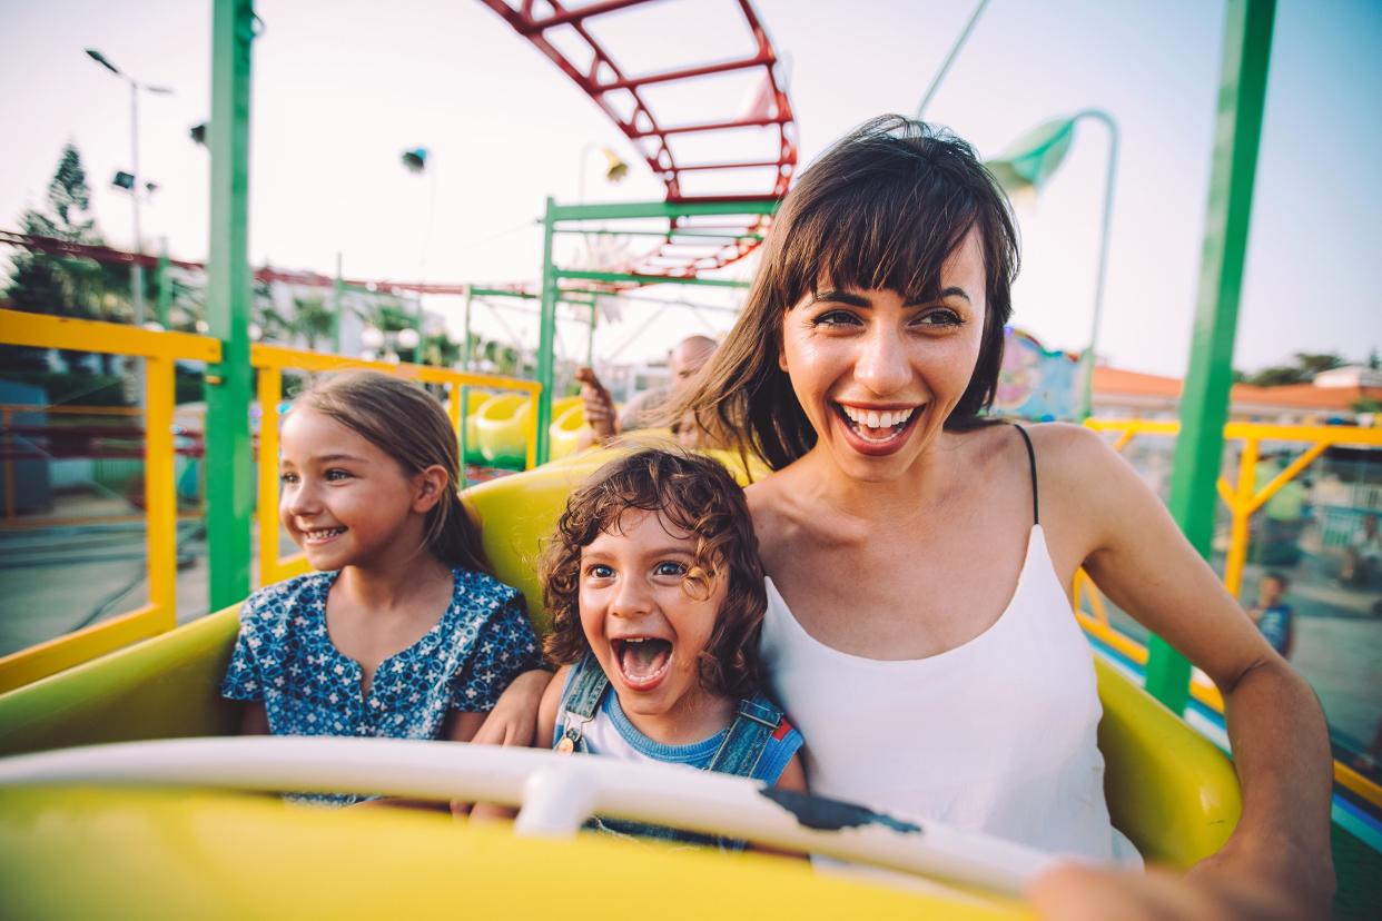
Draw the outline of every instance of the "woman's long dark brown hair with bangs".
[[[824,282],[936,300],[941,266],[972,229],[983,244],[988,312],[969,387],[945,428],[983,424],[1013,311],[1012,209],[969,144],[898,115],[855,128],[802,173],[773,222],[744,312],[669,416],[692,411],[724,443],[755,452],[773,469],[786,467],[815,445],[778,366],[786,312]]]

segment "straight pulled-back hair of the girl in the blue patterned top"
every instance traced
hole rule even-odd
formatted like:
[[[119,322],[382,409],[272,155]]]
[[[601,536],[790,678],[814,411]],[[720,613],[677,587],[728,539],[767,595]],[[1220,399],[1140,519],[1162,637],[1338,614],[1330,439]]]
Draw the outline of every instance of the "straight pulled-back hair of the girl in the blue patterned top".
[[[449,479],[427,512],[423,541],[448,566],[489,573],[480,527],[456,492],[456,432],[431,394],[379,371],[340,371],[314,378],[293,405],[336,420],[398,461],[409,476],[433,465],[446,468]]]

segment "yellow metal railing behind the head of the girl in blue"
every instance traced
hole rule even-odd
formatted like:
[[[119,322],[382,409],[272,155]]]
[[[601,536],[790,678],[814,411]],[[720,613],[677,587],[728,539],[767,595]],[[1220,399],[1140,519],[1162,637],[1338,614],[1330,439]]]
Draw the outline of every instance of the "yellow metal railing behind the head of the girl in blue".
[[[489,389],[522,391],[528,394],[528,458],[527,467],[536,465],[538,458],[538,396],[542,385],[515,377],[495,374],[470,374],[431,365],[394,365],[390,362],[366,362],[339,355],[322,355],[278,345],[254,345],[250,349],[250,365],[257,370],[260,405],[260,446],[258,446],[258,584],[269,585],[292,579],[308,570],[303,554],[279,556],[278,518],[278,427],[279,403],[283,399],[283,370],[339,371],[348,367],[369,367],[387,374],[398,374],[424,384],[442,384],[448,388],[446,413],[457,435],[464,424],[462,392],[466,387]]]

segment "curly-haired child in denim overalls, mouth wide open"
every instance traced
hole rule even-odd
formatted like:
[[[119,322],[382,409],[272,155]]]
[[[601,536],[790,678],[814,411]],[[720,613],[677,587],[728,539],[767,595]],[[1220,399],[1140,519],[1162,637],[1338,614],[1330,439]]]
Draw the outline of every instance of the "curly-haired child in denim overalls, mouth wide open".
[[[761,693],[763,569],[744,490],[720,464],[641,450],[604,465],[567,503],[542,576],[547,655],[562,668],[539,707],[539,744],[806,788],[802,735]]]

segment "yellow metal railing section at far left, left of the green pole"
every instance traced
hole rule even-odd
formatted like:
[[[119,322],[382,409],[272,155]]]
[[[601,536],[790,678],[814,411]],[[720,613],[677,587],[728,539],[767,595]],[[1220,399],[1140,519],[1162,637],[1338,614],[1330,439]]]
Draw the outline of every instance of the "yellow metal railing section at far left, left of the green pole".
[[[142,358],[144,503],[149,601],[130,613],[83,627],[0,657],[0,690],[87,661],[177,623],[177,492],[173,482],[173,365],[221,360],[221,344],[189,333],[153,333],[137,326],[69,320],[0,309],[0,341]]]

